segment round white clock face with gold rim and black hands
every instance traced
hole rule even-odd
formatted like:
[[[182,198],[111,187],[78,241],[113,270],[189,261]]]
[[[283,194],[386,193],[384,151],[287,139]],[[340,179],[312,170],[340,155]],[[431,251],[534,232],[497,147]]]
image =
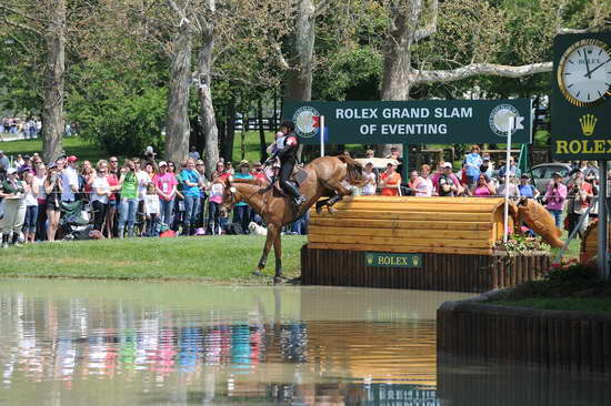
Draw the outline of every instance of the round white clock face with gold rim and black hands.
[[[558,85],[578,106],[594,106],[611,97],[611,47],[597,39],[571,44],[558,63]]]

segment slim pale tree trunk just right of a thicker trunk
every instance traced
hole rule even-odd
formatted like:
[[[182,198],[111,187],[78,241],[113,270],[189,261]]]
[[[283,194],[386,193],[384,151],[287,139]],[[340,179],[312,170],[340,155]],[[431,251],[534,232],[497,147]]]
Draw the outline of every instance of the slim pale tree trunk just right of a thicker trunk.
[[[203,150],[203,162],[206,164],[206,173],[209,176],[214,172],[217,162],[219,162],[219,129],[217,128],[217,118],[214,115],[214,106],[212,105],[212,94],[210,85],[212,83],[210,70],[212,68],[212,50],[214,49],[214,29],[211,23],[203,30],[201,35],[202,48],[199,53],[198,70],[200,78],[206,80],[206,85],[201,85],[199,90],[200,99],[200,115],[206,138],[206,148]]]

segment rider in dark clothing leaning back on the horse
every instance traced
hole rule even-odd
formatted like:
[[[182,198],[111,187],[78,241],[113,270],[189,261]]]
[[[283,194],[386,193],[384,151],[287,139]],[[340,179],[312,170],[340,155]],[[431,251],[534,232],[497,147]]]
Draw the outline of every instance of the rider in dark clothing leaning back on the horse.
[[[277,156],[280,159],[280,186],[287,194],[290,194],[294,203],[299,205],[306,202],[307,199],[294,184],[289,182],[293,173],[293,168],[297,164],[297,150],[299,149],[299,139],[293,131],[294,125],[291,121],[283,121],[280,124],[280,132],[282,134],[279,134],[280,136],[276,140],[276,151],[266,163],[273,163]]]

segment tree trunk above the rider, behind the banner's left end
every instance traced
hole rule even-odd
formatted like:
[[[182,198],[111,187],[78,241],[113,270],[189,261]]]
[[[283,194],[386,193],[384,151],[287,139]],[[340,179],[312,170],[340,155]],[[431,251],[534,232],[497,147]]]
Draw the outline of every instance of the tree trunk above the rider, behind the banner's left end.
[[[314,58],[315,7],[313,0],[301,0],[296,16],[296,33],[291,40],[286,100],[312,100],[312,62]]]

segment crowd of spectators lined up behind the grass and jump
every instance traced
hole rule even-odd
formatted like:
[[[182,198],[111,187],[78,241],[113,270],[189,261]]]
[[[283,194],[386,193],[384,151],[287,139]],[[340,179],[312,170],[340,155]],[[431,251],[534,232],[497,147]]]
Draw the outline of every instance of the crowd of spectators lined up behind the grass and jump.
[[[399,152],[393,150],[387,158],[385,169],[374,168],[373,151],[365,152],[361,161],[365,183],[351,186],[353,194],[489,197],[504,196],[509,189],[515,201],[535,199],[543,203],[557,225],[569,231],[578,226],[584,213],[597,215],[593,196],[598,193],[598,169],[585,161],[574,165],[570,179],[554,173],[545,193],[540,193],[513,159],[497,170],[478,145],[471,148],[459,171],[451,162],[437,162],[434,169],[423,164],[409,172],[407,182],[398,171]],[[221,211],[223,184],[214,180],[232,175],[269,182],[277,171],[277,165],[264,168],[260,162],[241,161],[233,169],[230,161],[219,161],[207,174],[194,148],[180,164],[156,160],[149,148],[142,159],[127,159],[121,165],[117,156],[92,163],[62,155],[44,163],[39,154],[9,160],[0,151],[2,247],[63,238],[248,234],[251,223],[264,226],[260,216],[244,202],[238,203],[232,214]],[[286,232],[306,234],[307,223],[304,214]],[[587,225],[585,219],[579,231]]]

